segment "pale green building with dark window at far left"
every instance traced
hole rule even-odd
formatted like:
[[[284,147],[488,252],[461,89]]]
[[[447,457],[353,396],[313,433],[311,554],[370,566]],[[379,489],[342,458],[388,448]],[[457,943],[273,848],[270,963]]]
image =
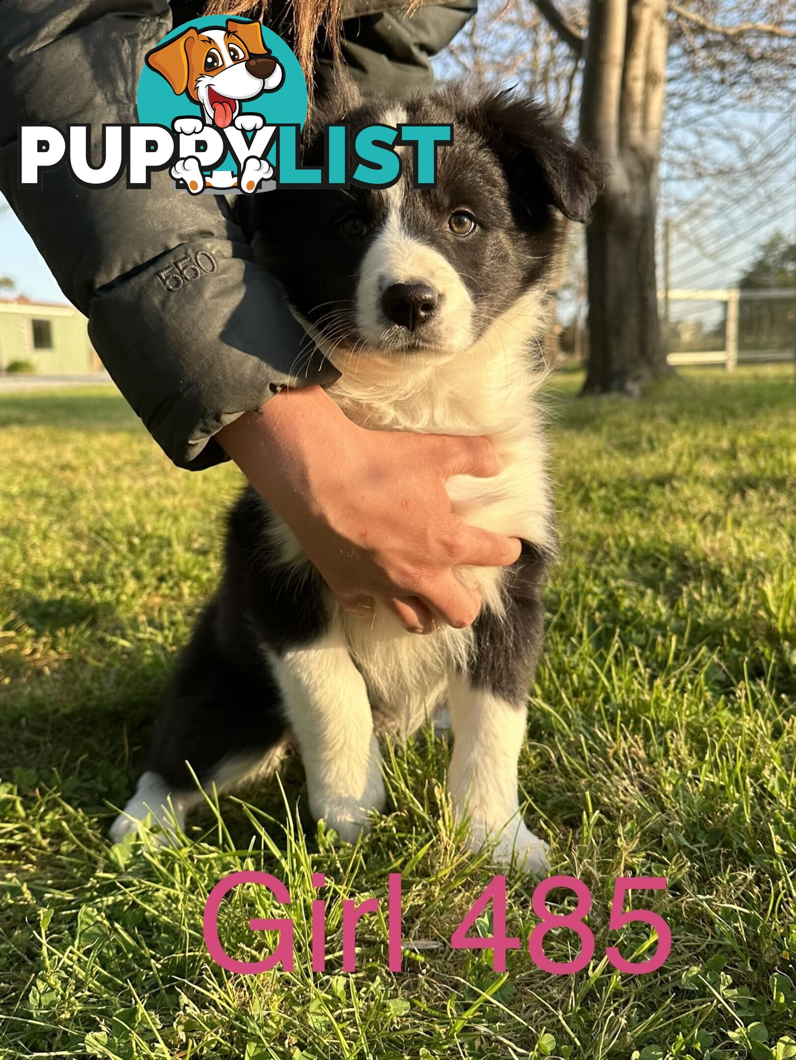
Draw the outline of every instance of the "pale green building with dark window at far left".
[[[72,305],[0,298],[0,371],[15,360],[33,365],[39,375],[102,370],[86,318]]]

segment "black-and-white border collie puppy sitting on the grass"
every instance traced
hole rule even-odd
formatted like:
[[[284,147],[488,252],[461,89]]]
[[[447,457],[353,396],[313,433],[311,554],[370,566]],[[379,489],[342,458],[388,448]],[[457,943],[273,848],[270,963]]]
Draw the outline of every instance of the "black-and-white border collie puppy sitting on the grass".
[[[542,640],[540,587],[553,553],[534,347],[557,249],[556,211],[583,222],[602,166],[542,106],[461,86],[405,104],[339,85],[307,129],[452,122],[434,189],[412,187],[411,151],[387,190],[277,190],[239,206],[262,263],[307,332],[342,372],[327,392],[354,423],[382,430],[486,435],[502,470],[447,482],[473,526],[522,541],[507,568],[458,568],[482,597],[469,629],[408,633],[336,604],[290,528],[252,489],[232,509],[215,598],[181,655],[146,772],[113,829],[149,812],[165,829],[220,789],[274,767],[297,745],[312,813],[352,840],[384,806],[377,735],[416,730],[447,705],[448,790],[472,848],[547,868],[522,822],[517,761]],[[406,469],[406,474],[412,470]]]

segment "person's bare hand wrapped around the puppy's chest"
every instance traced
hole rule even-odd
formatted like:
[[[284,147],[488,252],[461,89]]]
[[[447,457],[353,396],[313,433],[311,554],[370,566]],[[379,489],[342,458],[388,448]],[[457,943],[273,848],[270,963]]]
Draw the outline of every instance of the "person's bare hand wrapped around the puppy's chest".
[[[413,632],[464,628],[481,599],[453,568],[520,554],[516,538],[465,524],[445,490],[452,475],[498,474],[485,438],[367,430],[319,387],[282,391],[218,437],[360,617],[379,601]]]

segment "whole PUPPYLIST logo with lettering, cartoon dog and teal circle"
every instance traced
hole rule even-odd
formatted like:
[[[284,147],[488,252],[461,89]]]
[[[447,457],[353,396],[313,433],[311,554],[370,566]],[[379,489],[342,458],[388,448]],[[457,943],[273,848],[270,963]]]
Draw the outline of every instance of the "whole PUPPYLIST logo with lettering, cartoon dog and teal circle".
[[[388,188],[401,173],[399,147],[410,148],[414,187],[433,188],[437,148],[453,140],[450,125],[329,125],[323,166],[302,166],[304,71],[281,37],[244,18],[200,18],[167,34],[146,53],[137,106],[138,124],[103,125],[93,153],[87,125],[20,126],[20,188],[42,188],[63,164],[88,188],[123,175],[127,188],[149,188],[168,170],[191,195]]]

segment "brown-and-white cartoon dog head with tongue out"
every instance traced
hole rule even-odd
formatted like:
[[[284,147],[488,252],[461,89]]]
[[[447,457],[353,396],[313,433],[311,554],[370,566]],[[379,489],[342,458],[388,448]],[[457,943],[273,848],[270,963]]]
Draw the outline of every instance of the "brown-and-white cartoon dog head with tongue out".
[[[207,124],[226,128],[241,109],[242,100],[274,92],[284,71],[262,37],[259,22],[227,19],[225,29],[190,26],[178,37],[154,48],[146,66],[198,104]]]

